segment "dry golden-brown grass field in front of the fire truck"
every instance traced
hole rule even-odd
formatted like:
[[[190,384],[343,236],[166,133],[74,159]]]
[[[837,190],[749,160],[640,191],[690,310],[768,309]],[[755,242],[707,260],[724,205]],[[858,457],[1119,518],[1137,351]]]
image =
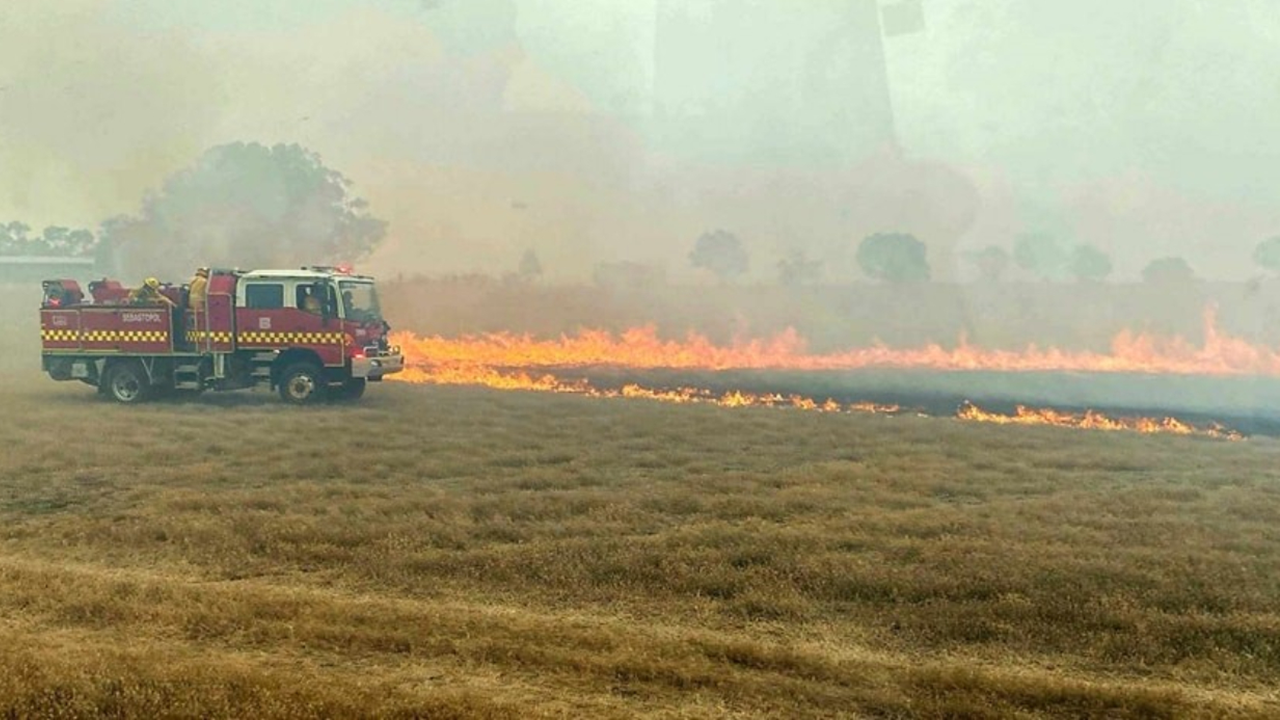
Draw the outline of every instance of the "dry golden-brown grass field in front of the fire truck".
[[[1280,715],[1274,441],[13,366],[0,716]]]

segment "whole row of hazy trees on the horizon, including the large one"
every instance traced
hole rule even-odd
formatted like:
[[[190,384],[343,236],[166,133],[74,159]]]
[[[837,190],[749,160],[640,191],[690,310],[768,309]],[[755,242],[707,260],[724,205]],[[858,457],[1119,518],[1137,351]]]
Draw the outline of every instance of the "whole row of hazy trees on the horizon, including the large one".
[[[137,214],[109,218],[96,232],[50,225],[37,233],[22,222],[0,223],[0,255],[93,255],[109,272],[136,265],[147,273],[184,273],[197,265],[355,261],[371,254],[385,234],[387,223],[316,152],[300,145],[233,142],[209,149],[191,167],[169,176]],[[1097,246],[1065,243],[1048,234],[1024,234],[1011,249],[989,245],[961,258],[987,282],[998,282],[1014,266],[1043,281],[1102,282],[1112,273],[1111,258]],[[687,260],[723,282],[750,269],[745,243],[723,228],[699,236]],[[858,243],[855,260],[868,278],[888,283],[933,277],[928,247],[909,233],[870,234]],[[1253,260],[1280,273],[1280,236],[1260,242]],[[774,269],[781,284],[800,286],[820,282],[826,264],[792,250]],[[516,274],[526,279],[541,274],[532,250],[521,258]],[[657,277],[639,263],[602,264],[595,275],[602,284]],[[1196,273],[1183,258],[1157,258],[1142,277],[1189,282]]]

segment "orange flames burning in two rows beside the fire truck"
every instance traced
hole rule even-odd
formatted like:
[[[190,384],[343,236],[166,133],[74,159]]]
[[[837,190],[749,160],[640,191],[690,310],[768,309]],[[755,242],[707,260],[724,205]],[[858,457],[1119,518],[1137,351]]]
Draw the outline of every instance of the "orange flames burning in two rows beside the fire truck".
[[[1098,373],[1169,373],[1203,375],[1271,374],[1280,375],[1280,352],[1253,346],[1243,340],[1217,332],[1212,310],[1204,315],[1204,345],[1194,347],[1181,338],[1162,341],[1143,334],[1120,333],[1110,355],[1073,352],[1057,348],[1039,350],[1030,346],[1020,352],[977,348],[961,340],[954,350],[931,345],[916,350],[895,350],[884,346],[855,348],[826,355],[805,352],[805,343],[795,331],[786,331],[767,341],[713,345],[691,333],[684,342],[663,341],[652,325],[632,328],[617,337],[603,331],[582,331],[554,341],[530,336],[492,333],[447,340],[439,336],[416,337],[394,333],[393,341],[404,348],[411,365],[390,379],[410,383],[471,384],[497,389],[573,393],[589,397],[644,398],[659,402],[708,404],[722,407],[792,407],[820,413],[873,413],[895,415],[897,405],[873,402],[840,404],[827,398],[777,393],[730,391],[716,395],[703,388],[646,388],[625,384],[602,389],[586,379],[566,380],[538,369],[588,366],[622,366],[631,369],[787,369],[787,370],[851,370],[864,368],[901,368],[931,370],[1000,370],[1000,372],[1098,372]],[[1224,439],[1242,439],[1239,433],[1211,425],[1196,428],[1174,418],[1110,418],[1089,410],[1083,414],[1018,406],[1014,415],[989,413],[965,404],[955,415],[959,420],[1051,425],[1094,430],[1129,430],[1139,433],[1197,434]]]

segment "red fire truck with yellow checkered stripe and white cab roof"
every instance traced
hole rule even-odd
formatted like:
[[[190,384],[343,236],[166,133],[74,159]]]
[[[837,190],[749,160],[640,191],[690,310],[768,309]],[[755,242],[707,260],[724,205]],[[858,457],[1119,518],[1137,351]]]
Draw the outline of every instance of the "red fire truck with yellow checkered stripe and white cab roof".
[[[129,300],[115,281],[44,282],[44,369],[118,402],[172,392],[275,388],[293,404],[355,400],[365,383],[404,366],[387,341],[374,279],[340,268],[219,270],[204,302],[187,286],[172,300]]]

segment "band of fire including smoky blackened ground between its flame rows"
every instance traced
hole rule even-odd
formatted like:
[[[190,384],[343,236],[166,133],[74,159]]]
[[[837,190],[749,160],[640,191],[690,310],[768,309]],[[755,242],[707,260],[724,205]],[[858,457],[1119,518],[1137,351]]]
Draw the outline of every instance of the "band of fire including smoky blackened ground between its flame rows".
[[[1280,352],[1220,332],[1212,309],[1204,313],[1203,338],[1192,343],[1121,332],[1107,352],[992,350],[961,340],[950,348],[876,345],[815,354],[794,331],[731,345],[696,333],[663,340],[652,325],[621,333],[581,331],[556,340],[513,333],[393,334],[411,357],[397,379],[410,383],[1222,439],[1280,433],[1265,419],[1219,418],[1175,397],[1178,391],[1216,395],[1220,391],[1211,386],[1280,377]],[[983,397],[975,386],[992,384],[993,378],[997,389]],[[1088,398],[1093,388],[1097,402],[1056,400],[1056,406],[1033,406],[1046,387],[1065,388],[1062,397],[1075,398]]]

